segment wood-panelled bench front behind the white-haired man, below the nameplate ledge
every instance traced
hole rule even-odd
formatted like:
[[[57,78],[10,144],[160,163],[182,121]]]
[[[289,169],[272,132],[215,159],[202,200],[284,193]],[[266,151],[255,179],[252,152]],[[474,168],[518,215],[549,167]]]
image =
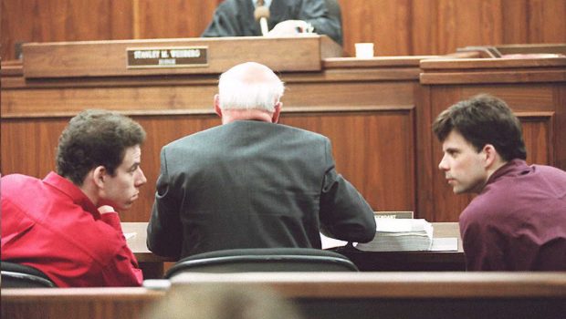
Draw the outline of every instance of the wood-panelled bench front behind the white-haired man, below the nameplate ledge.
[[[375,211],[414,211],[419,59],[353,62],[335,59],[321,72],[282,73],[280,122],[328,136],[337,169]],[[0,169],[43,178],[55,168],[58,135],[71,116],[84,108],[121,111],[147,131],[142,170],[148,179],[122,221],[148,221],[162,146],[220,124],[212,111],[217,76],[26,80],[21,69],[3,76]]]

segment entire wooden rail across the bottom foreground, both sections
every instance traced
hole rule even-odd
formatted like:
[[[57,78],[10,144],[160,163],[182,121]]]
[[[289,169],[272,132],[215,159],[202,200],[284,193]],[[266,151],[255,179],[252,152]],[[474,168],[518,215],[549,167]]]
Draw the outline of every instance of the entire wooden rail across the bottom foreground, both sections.
[[[171,291],[203,285],[273,289],[309,319],[559,318],[566,273],[183,273]],[[139,318],[168,299],[145,288],[3,289],[2,318]]]

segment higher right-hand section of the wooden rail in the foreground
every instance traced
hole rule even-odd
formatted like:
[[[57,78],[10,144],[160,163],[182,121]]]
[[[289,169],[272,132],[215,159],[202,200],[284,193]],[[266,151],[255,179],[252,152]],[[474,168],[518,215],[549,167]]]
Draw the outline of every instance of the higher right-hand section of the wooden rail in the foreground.
[[[566,273],[183,273],[179,285],[269,286],[306,318],[559,318]]]

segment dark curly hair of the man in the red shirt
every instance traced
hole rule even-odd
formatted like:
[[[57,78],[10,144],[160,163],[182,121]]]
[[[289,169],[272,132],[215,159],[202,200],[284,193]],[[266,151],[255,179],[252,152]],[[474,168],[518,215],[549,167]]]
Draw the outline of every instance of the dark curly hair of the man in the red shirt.
[[[142,126],[131,118],[100,109],[82,111],[70,119],[59,137],[58,174],[79,186],[100,165],[114,175],[126,149],[142,145],[144,139]]]

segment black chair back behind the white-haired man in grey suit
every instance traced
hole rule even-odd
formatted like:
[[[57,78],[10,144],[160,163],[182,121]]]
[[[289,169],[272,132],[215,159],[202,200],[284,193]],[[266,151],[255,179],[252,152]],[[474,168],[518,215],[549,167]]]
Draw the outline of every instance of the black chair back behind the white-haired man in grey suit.
[[[246,248],[203,252],[176,262],[167,273],[358,272],[338,252],[314,248]]]

